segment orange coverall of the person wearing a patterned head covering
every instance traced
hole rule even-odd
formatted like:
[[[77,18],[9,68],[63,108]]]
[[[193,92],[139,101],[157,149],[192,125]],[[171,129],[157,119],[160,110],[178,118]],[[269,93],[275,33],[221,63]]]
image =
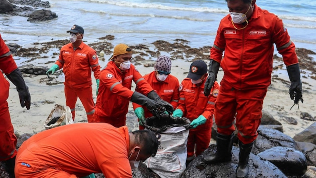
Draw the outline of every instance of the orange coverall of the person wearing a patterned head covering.
[[[179,102],[179,80],[174,75],[169,74],[167,79],[163,82],[158,81],[155,74],[152,71],[144,75],[144,79],[150,84],[152,89],[165,101],[171,103],[174,109],[177,108]],[[139,91],[136,87],[135,91]],[[134,109],[137,107],[142,107],[141,105],[133,102]],[[145,118],[152,116],[152,113],[146,108],[143,107],[145,111]],[[139,129],[144,129],[143,126],[139,125]]]

